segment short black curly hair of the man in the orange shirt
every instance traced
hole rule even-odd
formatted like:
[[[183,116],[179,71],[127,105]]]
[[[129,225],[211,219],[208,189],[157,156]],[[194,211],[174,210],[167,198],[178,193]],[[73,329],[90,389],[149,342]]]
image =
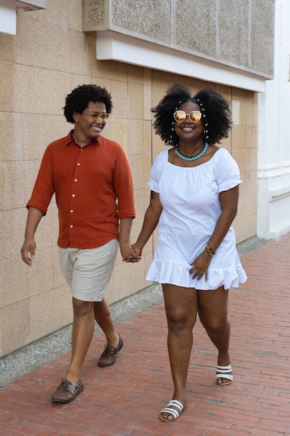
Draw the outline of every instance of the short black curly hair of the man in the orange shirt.
[[[89,102],[102,102],[106,106],[106,113],[111,114],[112,98],[106,88],[97,85],[81,85],[67,95],[63,112],[67,123],[74,124],[73,114],[82,114]]]

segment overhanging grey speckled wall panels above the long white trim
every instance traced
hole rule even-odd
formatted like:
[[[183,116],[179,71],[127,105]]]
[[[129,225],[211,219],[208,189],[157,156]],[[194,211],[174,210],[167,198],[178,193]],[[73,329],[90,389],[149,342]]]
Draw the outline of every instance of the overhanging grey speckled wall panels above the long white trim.
[[[273,77],[275,0],[84,0],[83,30],[113,31]]]

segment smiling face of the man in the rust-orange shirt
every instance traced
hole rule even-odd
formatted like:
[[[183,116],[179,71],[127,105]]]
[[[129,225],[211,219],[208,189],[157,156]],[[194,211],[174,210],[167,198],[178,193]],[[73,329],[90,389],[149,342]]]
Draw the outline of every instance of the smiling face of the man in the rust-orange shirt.
[[[99,116],[97,119],[91,118],[90,114],[106,114],[106,106],[103,102],[89,102],[88,107],[82,114],[75,112],[74,116],[74,138],[77,143],[89,143],[92,139],[97,139],[106,125],[106,120]]]

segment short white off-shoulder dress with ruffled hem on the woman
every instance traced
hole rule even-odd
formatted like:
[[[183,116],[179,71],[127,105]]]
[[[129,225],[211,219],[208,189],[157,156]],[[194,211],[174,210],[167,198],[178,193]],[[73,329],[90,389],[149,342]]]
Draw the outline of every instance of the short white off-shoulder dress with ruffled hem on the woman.
[[[230,226],[209,265],[207,281],[189,274],[191,263],[204,251],[222,212],[219,193],[241,183],[239,167],[224,148],[208,162],[184,168],[168,162],[168,150],[152,165],[150,189],[159,193],[163,206],[154,259],[146,279],[198,290],[238,288],[247,276],[236,251]]]

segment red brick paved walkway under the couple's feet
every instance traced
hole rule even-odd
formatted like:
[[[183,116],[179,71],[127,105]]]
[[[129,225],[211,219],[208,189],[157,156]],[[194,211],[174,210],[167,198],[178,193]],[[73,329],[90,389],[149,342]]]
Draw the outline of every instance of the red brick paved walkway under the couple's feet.
[[[290,234],[245,254],[242,263],[248,281],[229,299],[232,384],[215,384],[216,350],[197,322],[189,407],[174,423],[159,421],[172,396],[160,302],[120,322],[124,348],[114,366],[96,366],[104,336],[94,336],[83,368],[85,390],[73,403],[50,402],[70,353],[3,387],[0,434],[290,435]]]

